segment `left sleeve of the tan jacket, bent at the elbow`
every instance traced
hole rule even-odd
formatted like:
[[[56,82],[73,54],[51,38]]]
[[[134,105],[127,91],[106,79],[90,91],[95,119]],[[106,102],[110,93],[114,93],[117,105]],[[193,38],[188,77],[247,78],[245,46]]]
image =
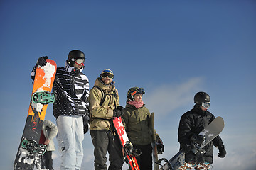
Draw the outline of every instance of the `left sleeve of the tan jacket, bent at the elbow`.
[[[89,110],[92,118],[112,118],[113,110],[109,106],[100,106],[102,92],[97,88],[92,88],[89,93]]]

